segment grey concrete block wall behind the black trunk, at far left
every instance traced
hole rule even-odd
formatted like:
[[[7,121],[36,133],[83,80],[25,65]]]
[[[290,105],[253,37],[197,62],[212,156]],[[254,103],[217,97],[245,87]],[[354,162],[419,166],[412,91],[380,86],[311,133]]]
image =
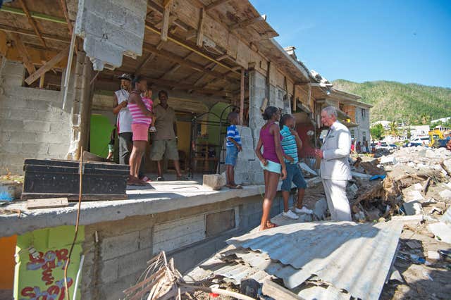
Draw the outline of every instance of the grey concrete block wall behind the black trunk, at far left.
[[[22,63],[0,66],[0,174],[23,173],[25,158],[65,158],[70,142],[70,112],[62,92],[22,87]]]

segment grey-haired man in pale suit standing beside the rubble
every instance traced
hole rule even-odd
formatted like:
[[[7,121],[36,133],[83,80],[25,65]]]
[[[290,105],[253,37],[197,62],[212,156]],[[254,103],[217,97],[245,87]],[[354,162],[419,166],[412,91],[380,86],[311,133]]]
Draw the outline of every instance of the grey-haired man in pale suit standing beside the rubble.
[[[347,180],[351,179],[350,163],[347,160],[351,152],[351,135],[337,117],[337,108],[333,106],[321,111],[321,123],[329,130],[323,146],[316,150],[316,156],[321,158],[321,180],[332,220],[350,221],[351,209],[346,185]]]

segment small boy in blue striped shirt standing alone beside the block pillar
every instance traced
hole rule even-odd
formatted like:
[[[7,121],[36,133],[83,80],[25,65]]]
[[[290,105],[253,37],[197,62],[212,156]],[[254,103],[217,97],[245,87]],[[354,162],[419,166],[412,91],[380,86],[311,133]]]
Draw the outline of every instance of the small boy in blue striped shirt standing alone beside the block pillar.
[[[238,114],[231,112],[228,114],[227,127],[227,147],[226,147],[226,187],[230,189],[242,189],[241,185],[235,183],[235,165],[237,163],[238,152],[242,151],[240,132],[238,132],[237,124],[239,122]]]

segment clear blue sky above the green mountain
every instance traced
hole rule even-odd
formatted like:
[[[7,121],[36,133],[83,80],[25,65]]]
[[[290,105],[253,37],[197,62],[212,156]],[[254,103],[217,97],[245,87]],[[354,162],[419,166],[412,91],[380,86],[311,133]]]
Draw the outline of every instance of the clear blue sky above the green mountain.
[[[251,0],[328,80],[451,87],[451,0]]]

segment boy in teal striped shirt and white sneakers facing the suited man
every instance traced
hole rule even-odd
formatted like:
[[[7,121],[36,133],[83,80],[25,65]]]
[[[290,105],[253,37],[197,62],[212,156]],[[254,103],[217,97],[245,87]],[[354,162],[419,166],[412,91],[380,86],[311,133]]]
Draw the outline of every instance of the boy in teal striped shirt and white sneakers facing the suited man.
[[[299,135],[295,131],[295,118],[292,115],[283,115],[280,118],[280,135],[283,139],[280,145],[283,148],[285,157],[285,165],[287,167],[287,177],[282,181],[282,196],[283,196],[283,215],[287,218],[297,219],[299,216],[296,213],[312,213],[307,207],[302,207],[302,200],[304,200],[305,189],[307,182],[304,180],[302,171],[299,168],[299,158],[297,151],[301,149],[302,142]],[[294,182],[297,187],[297,204],[295,206],[295,213],[290,211],[288,207],[288,199],[290,198],[291,182]]]

